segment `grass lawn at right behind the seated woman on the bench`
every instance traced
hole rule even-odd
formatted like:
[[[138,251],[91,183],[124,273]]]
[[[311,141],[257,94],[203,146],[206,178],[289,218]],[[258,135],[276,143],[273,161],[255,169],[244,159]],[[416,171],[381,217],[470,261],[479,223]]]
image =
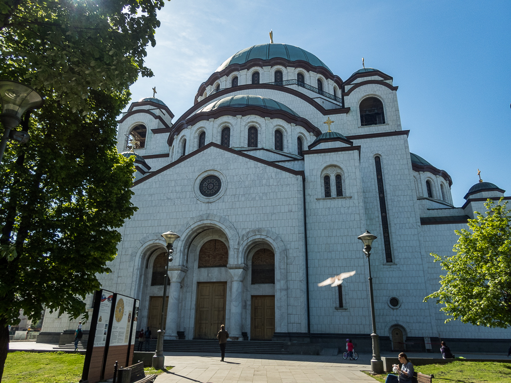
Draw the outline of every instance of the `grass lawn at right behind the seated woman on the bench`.
[[[416,372],[431,375],[433,383],[508,383],[511,381],[511,363],[462,362],[415,366]],[[370,375],[373,376],[373,375]],[[384,382],[387,373],[373,376]]]

